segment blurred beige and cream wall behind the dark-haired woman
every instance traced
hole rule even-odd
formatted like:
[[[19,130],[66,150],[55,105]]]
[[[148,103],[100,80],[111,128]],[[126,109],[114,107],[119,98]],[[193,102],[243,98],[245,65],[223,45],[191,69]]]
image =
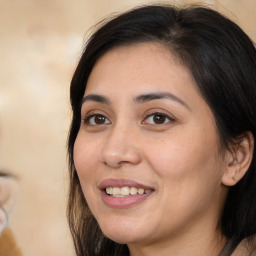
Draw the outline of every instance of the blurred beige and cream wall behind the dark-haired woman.
[[[74,256],[66,221],[69,82],[86,32],[143,0],[0,0],[0,168],[18,176],[10,226],[26,256]],[[205,3],[256,41],[255,0]]]

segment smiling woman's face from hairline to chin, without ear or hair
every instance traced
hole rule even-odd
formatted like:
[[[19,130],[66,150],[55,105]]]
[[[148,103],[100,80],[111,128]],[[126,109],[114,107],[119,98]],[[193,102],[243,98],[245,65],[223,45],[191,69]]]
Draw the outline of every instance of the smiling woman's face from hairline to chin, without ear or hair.
[[[102,231],[147,244],[216,232],[226,189],[213,114],[190,72],[156,43],[94,66],[74,162]]]

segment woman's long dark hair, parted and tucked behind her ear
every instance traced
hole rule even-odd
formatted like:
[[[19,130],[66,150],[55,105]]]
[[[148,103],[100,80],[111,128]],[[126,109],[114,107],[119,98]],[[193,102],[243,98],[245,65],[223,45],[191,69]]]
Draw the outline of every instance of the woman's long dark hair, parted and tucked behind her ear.
[[[166,5],[139,7],[101,23],[85,46],[70,88],[68,219],[78,256],[129,255],[126,245],[103,235],[92,216],[75,170],[73,147],[81,101],[95,62],[114,47],[141,42],[162,44],[190,70],[213,112],[223,148],[229,149],[245,131],[256,137],[256,50],[235,23],[208,8]],[[229,189],[219,221],[222,234],[230,241],[226,255],[256,233],[255,160],[254,148],[246,175]]]

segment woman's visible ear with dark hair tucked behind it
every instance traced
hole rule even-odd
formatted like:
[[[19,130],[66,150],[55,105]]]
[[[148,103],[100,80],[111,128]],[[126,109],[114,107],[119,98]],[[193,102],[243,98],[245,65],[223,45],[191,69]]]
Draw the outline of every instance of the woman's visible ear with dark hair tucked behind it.
[[[232,150],[226,153],[226,169],[222,176],[222,184],[234,186],[246,174],[253,158],[254,138],[247,131],[237,139]]]

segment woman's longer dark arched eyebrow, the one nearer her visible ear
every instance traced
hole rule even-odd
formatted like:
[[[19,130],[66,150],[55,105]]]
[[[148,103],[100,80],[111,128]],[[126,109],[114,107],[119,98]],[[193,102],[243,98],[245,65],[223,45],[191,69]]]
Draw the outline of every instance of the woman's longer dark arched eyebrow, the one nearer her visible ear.
[[[148,101],[159,100],[159,99],[168,99],[168,100],[176,101],[190,110],[190,107],[183,100],[181,100],[180,98],[178,98],[177,96],[175,96],[169,92],[157,92],[157,93],[142,94],[142,95],[137,96],[134,99],[134,102],[140,104],[140,103],[145,103]]]

